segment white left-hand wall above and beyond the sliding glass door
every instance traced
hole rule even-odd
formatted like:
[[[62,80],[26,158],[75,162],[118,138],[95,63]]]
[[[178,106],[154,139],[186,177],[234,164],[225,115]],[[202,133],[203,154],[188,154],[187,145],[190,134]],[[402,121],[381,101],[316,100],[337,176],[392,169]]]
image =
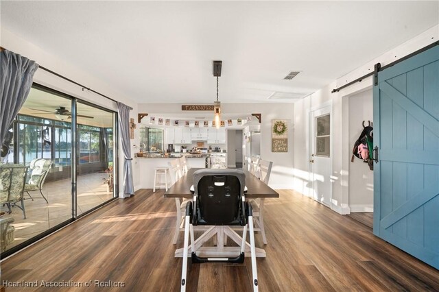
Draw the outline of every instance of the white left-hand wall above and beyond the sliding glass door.
[[[137,104],[134,103],[129,97],[119,92],[117,89],[113,88],[110,84],[106,84],[102,80],[99,80],[99,77],[90,75],[86,71],[82,71],[78,69],[74,64],[70,64],[58,58],[57,56],[51,55],[47,51],[44,51],[40,47],[24,40],[23,38],[19,38],[14,33],[9,32],[7,29],[1,27],[1,46],[5,47],[14,53],[19,53],[21,56],[25,56],[31,60],[36,61],[40,66],[44,66],[51,71],[59,73],[60,75],[64,75],[69,79],[83,84],[88,88],[91,88],[99,93],[102,93],[112,99],[116,99],[118,101],[123,102],[127,106],[131,106],[133,110],[130,112],[130,117],[135,118],[137,121]],[[104,108],[108,108],[110,110],[117,111],[117,105],[115,102],[110,101],[104,97],[96,95],[95,93],[88,92],[88,90],[82,90],[82,87],[72,84],[66,80],[61,79],[60,77],[56,77],[47,71],[42,69],[38,69],[34,75],[34,82],[38,84],[42,84],[49,88],[53,88],[62,93],[66,93],[67,95],[71,95],[73,97],[77,97],[78,99],[82,99],[85,101],[90,101],[93,104],[97,104],[98,106],[102,106]],[[139,144],[137,136],[137,144]],[[136,144],[136,142],[131,141],[132,144]],[[120,143],[119,143],[120,145]],[[132,149],[132,154],[134,155],[134,149]],[[139,171],[138,168],[133,167],[134,173],[134,186],[139,184]],[[119,147],[119,196],[122,197],[121,192],[123,191],[123,154],[121,152],[121,147]]]

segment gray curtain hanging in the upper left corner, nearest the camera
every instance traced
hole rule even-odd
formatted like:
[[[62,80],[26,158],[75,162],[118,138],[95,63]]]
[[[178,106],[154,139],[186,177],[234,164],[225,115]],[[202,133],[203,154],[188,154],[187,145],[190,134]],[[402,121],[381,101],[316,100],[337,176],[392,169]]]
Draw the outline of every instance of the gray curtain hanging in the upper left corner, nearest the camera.
[[[0,52],[0,142],[23,106],[38,64],[12,51]]]

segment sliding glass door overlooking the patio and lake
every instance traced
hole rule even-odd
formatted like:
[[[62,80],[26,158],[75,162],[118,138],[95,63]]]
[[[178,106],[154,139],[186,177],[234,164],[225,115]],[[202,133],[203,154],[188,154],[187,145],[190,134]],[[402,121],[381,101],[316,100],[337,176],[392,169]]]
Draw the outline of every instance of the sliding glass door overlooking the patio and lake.
[[[2,257],[115,197],[116,124],[116,112],[34,84],[1,147]]]

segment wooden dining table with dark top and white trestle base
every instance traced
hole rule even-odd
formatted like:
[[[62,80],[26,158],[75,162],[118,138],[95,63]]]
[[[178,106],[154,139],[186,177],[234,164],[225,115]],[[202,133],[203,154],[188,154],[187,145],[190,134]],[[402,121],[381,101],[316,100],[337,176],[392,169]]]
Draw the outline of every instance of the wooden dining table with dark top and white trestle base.
[[[187,171],[185,175],[180,178],[175,184],[173,184],[166,192],[164,197],[174,198],[176,199],[176,208],[177,208],[177,222],[179,221],[181,215],[180,212],[180,199],[192,199],[193,193],[190,188],[193,185],[193,173],[199,170],[199,168],[191,168]],[[270,186],[265,184],[263,181],[259,180],[256,176],[254,176],[250,171],[242,169],[244,173],[246,173],[246,187],[247,191],[244,193],[246,200],[248,199],[259,199],[261,204],[259,206],[263,206],[263,201],[265,198],[276,198],[279,197],[279,194],[274,191]],[[259,210],[262,212],[263,210]],[[179,224],[177,224],[179,226]],[[191,254],[192,245],[195,245],[195,250],[197,253],[200,252],[201,256],[235,256],[237,252],[239,252],[238,247],[228,247],[224,244],[225,236],[232,239],[238,245],[241,244],[242,237],[237,234],[232,228],[228,226],[213,226],[211,228],[202,227],[200,230],[204,231],[204,233],[195,240],[194,243],[189,245],[189,252]],[[241,229],[242,230],[242,229]],[[195,230],[197,231],[197,230]],[[180,228],[176,228],[176,236],[174,236],[174,244],[176,243],[176,239],[178,238],[178,232],[180,232]],[[203,244],[208,241],[211,237],[216,235],[216,246],[205,247]],[[250,245],[246,243],[246,252],[250,254]],[[179,248],[175,252],[176,257],[183,256],[183,249]],[[256,256],[257,257],[265,257],[265,250],[263,248],[256,248]]]

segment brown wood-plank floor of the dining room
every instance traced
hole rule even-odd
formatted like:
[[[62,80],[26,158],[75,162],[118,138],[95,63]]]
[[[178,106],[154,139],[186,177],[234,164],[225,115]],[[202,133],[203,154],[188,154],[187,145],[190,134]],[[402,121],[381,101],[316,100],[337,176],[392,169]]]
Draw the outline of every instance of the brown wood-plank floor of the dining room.
[[[437,269],[312,199],[279,193],[265,201],[268,245],[267,258],[257,259],[259,291],[439,291]],[[163,190],[138,191],[4,260],[1,280],[93,281],[91,288],[53,291],[179,291],[175,215],[174,199],[163,198]],[[190,262],[188,291],[252,291],[250,258],[242,265]],[[95,280],[124,287],[100,288]],[[6,289],[33,290],[47,288]]]

